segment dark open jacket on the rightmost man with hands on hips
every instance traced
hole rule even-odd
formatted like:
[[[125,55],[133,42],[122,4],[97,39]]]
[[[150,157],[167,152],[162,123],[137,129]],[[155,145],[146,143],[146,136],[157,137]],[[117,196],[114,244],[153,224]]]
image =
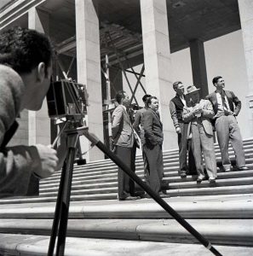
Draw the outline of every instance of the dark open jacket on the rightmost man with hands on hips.
[[[234,95],[233,91],[224,90],[224,92],[225,92],[225,95],[227,96],[229,108],[231,109],[231,111],[233,111],[235,115],[238,115],[242,106],[242,103],[239,101],[239,98]],[[205,98],[212,103],[212,106],[216,114],[218,112],[218,102],[217,102],[216,91],[210,93],[210,95],[206,96]]]

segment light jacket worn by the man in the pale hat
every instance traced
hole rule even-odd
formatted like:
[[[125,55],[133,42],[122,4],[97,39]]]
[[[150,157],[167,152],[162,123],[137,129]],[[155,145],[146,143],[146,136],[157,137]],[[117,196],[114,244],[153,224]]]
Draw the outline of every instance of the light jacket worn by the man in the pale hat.
[[[215,113],[213,110],[213,107],[211,105],[211,102],[208,100],[200,100],[199,102],[200,106],[203,108],[203,113],[201,113],[200,120],[202,122],[202,125],[204,127],[204,131],[207,134],[213,135],[213,127],[211,124],[211,119],[213,119]],[[193,114],[193,107],[187,108],[185,107],[183,110],[183,119],[186,122],[192,122],[192,125],[197,125],[197,117]]]

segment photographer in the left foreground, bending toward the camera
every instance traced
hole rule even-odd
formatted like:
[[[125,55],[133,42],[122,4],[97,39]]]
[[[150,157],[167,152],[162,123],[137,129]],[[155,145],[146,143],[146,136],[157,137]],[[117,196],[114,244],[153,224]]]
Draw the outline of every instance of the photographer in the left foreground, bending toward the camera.
[[[6,147],[20,112],[42,107],[52,57],[49,39],[39,32],[20,27],[0,32],[0,197],[26,195],[32,175],[49,177],[59,164],[49,146]]]

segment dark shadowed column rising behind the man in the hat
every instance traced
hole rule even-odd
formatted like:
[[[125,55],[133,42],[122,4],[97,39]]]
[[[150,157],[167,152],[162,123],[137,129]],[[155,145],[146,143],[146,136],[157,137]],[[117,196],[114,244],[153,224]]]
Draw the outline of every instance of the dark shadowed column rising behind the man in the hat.
[[[208,82],[205,67],[204,43],[198,39],[190,42],[190,52],[193,70],[193,84],[200,88],[200,96],[208,95]]]

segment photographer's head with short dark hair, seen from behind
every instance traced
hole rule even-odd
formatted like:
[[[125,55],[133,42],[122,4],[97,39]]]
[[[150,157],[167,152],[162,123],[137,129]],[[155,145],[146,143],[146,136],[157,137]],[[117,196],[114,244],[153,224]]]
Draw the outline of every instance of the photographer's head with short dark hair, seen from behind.
[[[0,64],[19,73],[26,87],[21,109],[41,108],[49,90],[52,58],[53,47],[42,33],[21,27],[0,32]]]

